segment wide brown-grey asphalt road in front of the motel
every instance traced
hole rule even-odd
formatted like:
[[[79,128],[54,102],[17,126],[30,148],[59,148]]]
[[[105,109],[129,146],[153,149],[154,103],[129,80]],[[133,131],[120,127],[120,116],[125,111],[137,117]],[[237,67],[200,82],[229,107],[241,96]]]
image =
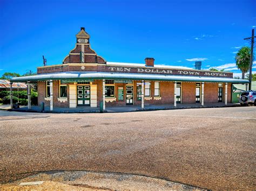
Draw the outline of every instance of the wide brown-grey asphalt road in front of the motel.
[[[256,107],[0,111],[0,180],[70,169],[156,176],[208,189],[256,189],[255,128]]]

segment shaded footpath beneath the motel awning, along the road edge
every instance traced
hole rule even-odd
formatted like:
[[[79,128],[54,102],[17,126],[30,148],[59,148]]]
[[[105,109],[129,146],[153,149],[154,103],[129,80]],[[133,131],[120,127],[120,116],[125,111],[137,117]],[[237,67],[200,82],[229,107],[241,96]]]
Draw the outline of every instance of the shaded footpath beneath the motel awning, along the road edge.
[[[172,110],[172,109],[191,109],[191,108],[224,108],[224,107],[240,107],[239,103],[208,103],[202,106],[200,103],[193,104],[177,104],[174,107],[172,104],[162,104],[162,105],[145,105],[144,109],[140,105],[126,105],[124,107],[106,107],[103,112],[131,112],[131,111],[156,111],[156,110]],[[10,109],[10,105],[1,105],[0,109],[9,111],[21,111],[21,112],[42,112],[41,107],[32,106],[28,109],[27,106],[21,106],[18,109]],[[77,108],[54,108],[50,111],[50,107],[45,107],[44,111],[46,113],[98,113],[100,112],[99,107],[77,107]]]

